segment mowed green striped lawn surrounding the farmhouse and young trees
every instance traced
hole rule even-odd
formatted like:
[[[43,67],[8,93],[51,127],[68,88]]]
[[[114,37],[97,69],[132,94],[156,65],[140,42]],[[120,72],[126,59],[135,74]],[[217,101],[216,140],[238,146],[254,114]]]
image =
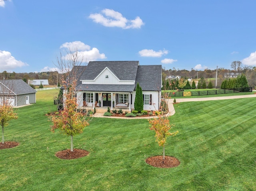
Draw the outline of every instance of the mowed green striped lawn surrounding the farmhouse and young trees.
[[[70,138],[50,132],[46,114],[56,110],[58,91],[36,93],[37,103],[18,108],[5,140],[20,146],[0,150],[0,190],[12,191],[253,191],[256,190],[256,98],[182,102],[170,118],[179,133],[166,155],[180,160],[161,169],[145,159],[162,155],[146,119],[93,118],[74,148],[90,154],[63,160]]]

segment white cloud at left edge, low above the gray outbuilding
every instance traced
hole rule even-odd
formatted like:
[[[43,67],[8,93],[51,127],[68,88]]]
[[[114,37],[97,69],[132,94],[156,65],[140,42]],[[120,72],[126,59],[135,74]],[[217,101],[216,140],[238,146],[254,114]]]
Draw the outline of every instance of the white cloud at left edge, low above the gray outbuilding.
[[[23,66],[28,66],[28,64],[16,60],[10,52],[0,50],[0,70],[8,71]]]

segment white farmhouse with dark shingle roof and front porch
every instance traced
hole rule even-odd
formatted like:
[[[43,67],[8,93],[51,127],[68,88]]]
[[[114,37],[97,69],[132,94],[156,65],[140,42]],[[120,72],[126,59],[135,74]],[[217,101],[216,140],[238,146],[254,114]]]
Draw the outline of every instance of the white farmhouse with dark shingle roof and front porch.
[[[136,85],[144,97],[144,110],[158,110],[161,102],[162,66],[140,65],[139,61],[90,61],[76,86],[78,106],[122,106],[134,109]],[[78,72],[79,73],[79,72]],[[114,101],[114,106],[113,106]],[[99,104],[97,104],[99,106]]]

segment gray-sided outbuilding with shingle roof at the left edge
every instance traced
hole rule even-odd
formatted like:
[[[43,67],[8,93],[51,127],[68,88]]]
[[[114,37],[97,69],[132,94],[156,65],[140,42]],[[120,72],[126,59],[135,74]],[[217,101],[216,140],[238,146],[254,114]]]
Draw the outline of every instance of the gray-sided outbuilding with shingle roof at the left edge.
[[[36,103],[36,91],[23,80],[0,80],[0,104],[3,100],[12,106]]]

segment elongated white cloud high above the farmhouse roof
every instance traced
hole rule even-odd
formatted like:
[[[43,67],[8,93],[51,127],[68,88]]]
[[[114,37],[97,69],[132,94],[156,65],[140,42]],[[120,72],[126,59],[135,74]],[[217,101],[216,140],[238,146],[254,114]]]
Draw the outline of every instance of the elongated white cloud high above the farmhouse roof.
[[[127,20],[122,16],[121,13],[116,12],[111,9],[104,9],[100,13],[90,14],[89,18],[92,19],[96,23],[100,23],[106,27],[120,27],[123,29],[129,28],[140,28],[144,25],[143,21],[140,17],[136,17],[134,20]]]

